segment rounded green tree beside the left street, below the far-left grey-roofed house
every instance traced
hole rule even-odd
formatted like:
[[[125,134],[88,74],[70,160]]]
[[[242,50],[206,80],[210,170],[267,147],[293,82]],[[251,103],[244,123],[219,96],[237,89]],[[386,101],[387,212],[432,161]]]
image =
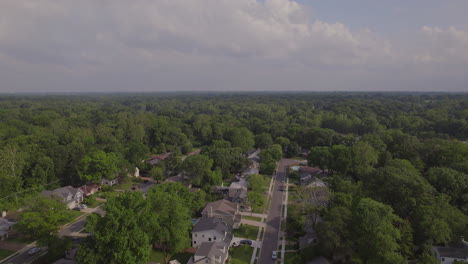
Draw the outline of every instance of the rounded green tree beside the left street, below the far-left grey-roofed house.
[[[20,215],[15,229],[37,239],[41,245],[48,245],[57,236],[59,226],[69,220],[70,211],[65,204],[40,195]]]

